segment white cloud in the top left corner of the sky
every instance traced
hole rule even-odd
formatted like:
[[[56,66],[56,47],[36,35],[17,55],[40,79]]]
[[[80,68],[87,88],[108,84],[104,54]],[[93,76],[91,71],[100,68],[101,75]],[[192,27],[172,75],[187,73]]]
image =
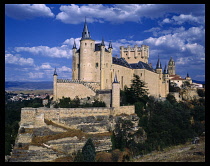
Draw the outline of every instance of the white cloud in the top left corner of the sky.
[[[54,17],[50,8],[45,4],[6,4],[5,14],[15,19]]]

